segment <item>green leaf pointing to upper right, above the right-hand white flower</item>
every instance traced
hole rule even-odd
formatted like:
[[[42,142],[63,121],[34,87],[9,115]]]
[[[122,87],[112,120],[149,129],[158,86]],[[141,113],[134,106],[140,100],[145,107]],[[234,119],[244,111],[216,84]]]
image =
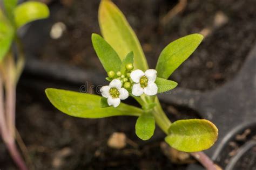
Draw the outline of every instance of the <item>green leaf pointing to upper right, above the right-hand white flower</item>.
[[[196,50],[203,38],[201,34],[191,34],[167,45],[160,53],[157,62],[158,77],[168,79],[174,70]]]

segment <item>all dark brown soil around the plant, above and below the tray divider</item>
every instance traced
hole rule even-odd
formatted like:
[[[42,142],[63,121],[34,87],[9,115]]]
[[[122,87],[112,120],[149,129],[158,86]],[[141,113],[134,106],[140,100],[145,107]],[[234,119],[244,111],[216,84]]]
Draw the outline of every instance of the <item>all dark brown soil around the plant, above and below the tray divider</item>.
[[[218,11],[228,18],[228,22],[214,29],[171,76],[180,87],[209,90],[221,86],[237,74],[255,43],[254,0],[188,1],[184,11],[165,26],[161,26],[159,20],[177,1],[118,0],[114,3],[136,31],[151,68],[169,42],[211,26]],[[67,31],[58,40],[49,39],[45,47],[35,52],[41,54],[37,59],[104,73],[91,45],[91,33],[99,33],[98,5],[99,1],[73,1],[72,5],[59,9],[52,20],[63,22]],[[79,86],[30,77],[28,73],[22,76],[17,90],[17,129],[35,169],[185,169],[186,165],[172,164],[161,152],[164,133],[159,129],[151,140],[142,141],[134,133],[134,117],[70,117],[53,108],[44,94],[46,87],[78,91]],[[186,108],[163,106],[172,121],[198,117],[196,112]],[[107,139],[113,132],[124,132],[136,146],[128,144],[122,150],[109,148]],[[1,170],[16,169],[2,143],[0,154]]]

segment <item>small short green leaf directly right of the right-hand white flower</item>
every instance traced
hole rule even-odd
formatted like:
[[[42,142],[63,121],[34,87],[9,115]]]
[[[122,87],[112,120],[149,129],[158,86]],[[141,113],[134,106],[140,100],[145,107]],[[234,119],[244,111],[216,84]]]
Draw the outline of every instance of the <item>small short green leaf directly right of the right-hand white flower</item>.
[[[172,90],[176,88],[176,86],[178,85],[178,83],[176,83],[175,81],[162,79],[159,77],[157,77],[155,83],[157,84],[157,87],[158,87],[157,93],[163,93],[165,91]]]

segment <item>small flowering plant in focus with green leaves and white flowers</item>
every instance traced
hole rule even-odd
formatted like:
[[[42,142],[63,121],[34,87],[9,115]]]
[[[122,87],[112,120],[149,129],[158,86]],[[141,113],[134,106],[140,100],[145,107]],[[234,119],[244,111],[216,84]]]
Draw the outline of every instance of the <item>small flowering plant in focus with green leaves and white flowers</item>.
[[[205,119],[171,123],[156,96],[177,86],[168,78],[196,50],[203,36],[191,34],[171,42],[160,53],[156,69],[149,69],[136,34],[111,1],[100,3],[99,25],[104,38],[92,34],[92,45],[110,81],[101,88],[102,97],[49,88],[45,92],[50,102],[65,114],[81,118],[137,116],[135,132],[140,139],[150,139],[157,124],[167,135],[165,141],[179,151],[210,148],[218,137],[213,123]],[[142,108],[120,102],[129,96]]]

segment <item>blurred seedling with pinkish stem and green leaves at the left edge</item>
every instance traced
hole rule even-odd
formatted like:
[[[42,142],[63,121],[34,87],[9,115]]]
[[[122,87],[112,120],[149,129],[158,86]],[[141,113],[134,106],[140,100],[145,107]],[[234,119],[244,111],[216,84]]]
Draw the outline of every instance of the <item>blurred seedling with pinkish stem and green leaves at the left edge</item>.
[[[47,18],[49,9],[32,1],[18,5],[18,0],[3,0],[0,5],[0,133],[18,168],[28,169],[15,144],[16,86],[25,63],[17,31],[27,23]]]

